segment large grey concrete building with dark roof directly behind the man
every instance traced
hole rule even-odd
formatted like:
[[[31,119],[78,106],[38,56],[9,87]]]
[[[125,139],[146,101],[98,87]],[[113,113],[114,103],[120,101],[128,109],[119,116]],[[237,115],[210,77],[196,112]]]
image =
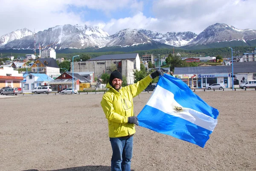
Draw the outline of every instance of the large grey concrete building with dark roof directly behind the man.
[[[73,70],[71,64],[71,71]],[[74,62],[74,72],[94,72],[95,77],[101,78],[105,72],[111,73],[119,70],[127,78],[128,84],[134,83],[134,70],[140,70],[140,57],[138,53],[102,55],[88,61]]]

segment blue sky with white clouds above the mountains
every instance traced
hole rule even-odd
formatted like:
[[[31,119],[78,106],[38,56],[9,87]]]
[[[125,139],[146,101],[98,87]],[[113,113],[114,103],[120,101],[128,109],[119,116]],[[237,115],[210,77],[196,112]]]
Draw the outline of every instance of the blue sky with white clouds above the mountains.
[[[199,34],[215,23],[256,29],[256,0],[0,0],[0,36],[64,24]]]

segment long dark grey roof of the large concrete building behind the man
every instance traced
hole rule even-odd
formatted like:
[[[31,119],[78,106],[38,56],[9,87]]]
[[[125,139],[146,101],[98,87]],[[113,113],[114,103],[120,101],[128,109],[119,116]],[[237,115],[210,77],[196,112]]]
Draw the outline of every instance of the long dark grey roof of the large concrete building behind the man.
[[[128,54],[114,54],[114,55],[101,55],[96,58],[91,58],[88,61],[108,61],[108,60],[120,60],[120,59],[136,59],[138,53]]]

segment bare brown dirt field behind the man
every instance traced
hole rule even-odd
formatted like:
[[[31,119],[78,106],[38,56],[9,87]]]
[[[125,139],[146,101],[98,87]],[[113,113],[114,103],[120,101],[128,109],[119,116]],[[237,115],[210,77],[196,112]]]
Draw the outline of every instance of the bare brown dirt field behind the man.
[[[219,110],[205,148],[136,127],[134,171],[256,171],[256,91],[196,92]],[[138,114],[151,93],[134,98]],[[110,171],[102,95],[0,99],[0,171]]]

